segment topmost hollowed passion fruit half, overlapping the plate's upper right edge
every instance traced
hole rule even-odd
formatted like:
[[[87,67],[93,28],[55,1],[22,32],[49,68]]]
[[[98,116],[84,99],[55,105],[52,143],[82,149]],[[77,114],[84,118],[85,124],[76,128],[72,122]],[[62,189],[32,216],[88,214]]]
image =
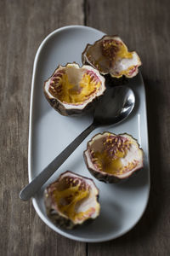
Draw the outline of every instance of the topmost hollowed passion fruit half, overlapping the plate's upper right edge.
[[[82,63],[97,68],[103,75],[110,73],[116,79],[123,75],[133,78],[142,64],[139,55],[135,51],[129,52],[121,38],[107,35],[87,45],[82,52]]]

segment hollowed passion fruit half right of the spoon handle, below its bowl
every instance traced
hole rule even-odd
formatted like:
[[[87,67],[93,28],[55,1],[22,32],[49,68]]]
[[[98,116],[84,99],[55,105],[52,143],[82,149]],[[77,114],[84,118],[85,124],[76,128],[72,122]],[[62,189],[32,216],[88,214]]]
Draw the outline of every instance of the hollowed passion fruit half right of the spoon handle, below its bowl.
[[[84,160],[94,177],[118,183],[143,168],[144,152],[131,135],[104,132],[88,142]]]

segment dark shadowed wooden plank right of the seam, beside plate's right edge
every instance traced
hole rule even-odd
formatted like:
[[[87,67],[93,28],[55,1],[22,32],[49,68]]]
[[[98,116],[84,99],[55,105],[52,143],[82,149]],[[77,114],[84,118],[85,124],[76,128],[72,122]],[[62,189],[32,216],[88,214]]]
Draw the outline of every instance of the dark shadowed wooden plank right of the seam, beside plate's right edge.
[[[88,256],[170,255],[169,1],[86,1],[86,21],[118,34],[143,61],[150,135],[150,201],[136,227],[115,241],[88,244]]]

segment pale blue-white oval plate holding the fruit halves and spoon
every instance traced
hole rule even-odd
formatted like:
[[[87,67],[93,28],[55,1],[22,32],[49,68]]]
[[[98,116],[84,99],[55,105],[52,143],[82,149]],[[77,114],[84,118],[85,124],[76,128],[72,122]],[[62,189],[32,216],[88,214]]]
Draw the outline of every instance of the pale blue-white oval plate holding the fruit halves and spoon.
[[[93,44],[103,35],[103,32],[88,26],[65,26],[50,33],[37,50],[31,84],[28,155],[30,182],[92,122],[91,116],[71,118],[57,113],[43,96],[43,83],[59,64],[76,61],[82,65],[81,55],[86,44]],[[133,113],[120,125],[99,128],[92,132],[33,198],[33,205],[40,218],[62,236],[77,241],[108,241],[131,230],[144,213],[150,193],[150,171],[145,92],[141,75],[132,79],[129,85],[136,96]],[[132,134],[144,149],[144,169],[126,183],[101,183],[91,176],[84,164],[82,152],[86,149],[88,140],[102,131]],[[92,177],[99,188],[99,218],[76,230],[56,227],[47,217],[43,204],[44,188],[66,170]]]

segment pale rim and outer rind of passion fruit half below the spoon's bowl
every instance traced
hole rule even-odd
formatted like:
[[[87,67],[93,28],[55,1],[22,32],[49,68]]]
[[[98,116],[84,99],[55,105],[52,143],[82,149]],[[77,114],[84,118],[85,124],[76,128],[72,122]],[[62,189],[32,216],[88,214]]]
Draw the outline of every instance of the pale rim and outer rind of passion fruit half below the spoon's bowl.
[[[103,136],[105,133],[108,133],[107,131],[103,132],[103,134],[98,133],[96,134],[94,137],[101,135]],[[111,134],[111,133],[110,133]],[[123,133],[123,134],[118,134],[116,135],[117,137],[125,135],[127,137],[132,137],[131,135],[127,134],[127,133]],[[137,168],[135,168],[135,171],[133,172],[129,172],[127,173],[126,177],[118,177],[112,173],[107,173],[107,172],[102,172],[98,169],[95,169],[94,166],[90,167],[89,166],[89,160],[87,157],[87,152],[88,152],[88,148],[89,148],[89,143],[91,143],[94,140],[94,137],[92,137],[92,139],[88,142],[87,145],[87,149],[83,152],[83,158],[84,158],[84,162],[86,164],[86,166],[88,167],[88,171],[95,177],[97,178],[99,181],[104,182],[104,183],[122,183],[124,181],[126,181],[129,177],[132,177],[133,175],[135,175],[137,172],[139,172],[139,170],[143,169],[144,167],[144,151],[142,148],[139,147],[139,150],[142,152],[142,166],[139,166]],[[137,141],[137,139],[133,138],[132,139],[138,144],[139,143]]]

